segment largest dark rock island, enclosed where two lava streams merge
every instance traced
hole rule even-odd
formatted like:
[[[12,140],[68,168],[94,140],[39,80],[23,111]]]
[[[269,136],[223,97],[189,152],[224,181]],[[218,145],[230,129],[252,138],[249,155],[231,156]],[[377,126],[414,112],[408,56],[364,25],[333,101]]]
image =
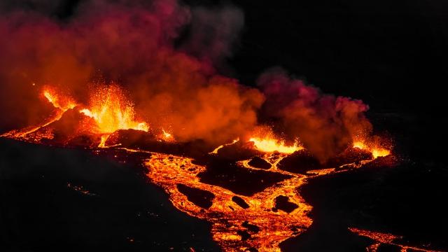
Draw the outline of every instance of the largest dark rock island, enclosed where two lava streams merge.
[[[201,182],[221,186],[239,195],[251,196],[284,179],[288,175],[239,167],[235,162],[210,160],[207,170],[198,175]]]

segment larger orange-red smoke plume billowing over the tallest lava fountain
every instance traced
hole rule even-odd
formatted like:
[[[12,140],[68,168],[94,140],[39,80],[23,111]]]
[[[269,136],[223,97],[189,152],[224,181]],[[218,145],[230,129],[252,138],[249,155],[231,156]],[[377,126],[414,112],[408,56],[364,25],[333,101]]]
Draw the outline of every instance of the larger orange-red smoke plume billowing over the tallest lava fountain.
[[[92,76],[101,75],[125,85],[137,113],[181,141],[225,141],[255,125],[262,95],[214,67],[230,55],[243,24],[241,10],[191,10],[172,0],[84,1],[61,21],[46,15],[57,6],[50,3],[36,8],[49,11],[3,8],[0,88],[9,99],[1,107],[11,112],[6,121],[26,125],[41,117],[33,83],[58,85],[86,102]],[[176,47],[186,28],[189,35]]]

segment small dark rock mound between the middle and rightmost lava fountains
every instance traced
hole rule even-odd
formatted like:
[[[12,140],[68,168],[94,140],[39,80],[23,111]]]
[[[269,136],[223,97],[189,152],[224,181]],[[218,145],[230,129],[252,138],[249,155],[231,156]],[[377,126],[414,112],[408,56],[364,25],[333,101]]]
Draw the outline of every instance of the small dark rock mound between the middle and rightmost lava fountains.
[[[305,174],[314,169],[321,169],[321,163],[307,151],[296,151],[283,158],[277,165],[279,169],[287,172]]]

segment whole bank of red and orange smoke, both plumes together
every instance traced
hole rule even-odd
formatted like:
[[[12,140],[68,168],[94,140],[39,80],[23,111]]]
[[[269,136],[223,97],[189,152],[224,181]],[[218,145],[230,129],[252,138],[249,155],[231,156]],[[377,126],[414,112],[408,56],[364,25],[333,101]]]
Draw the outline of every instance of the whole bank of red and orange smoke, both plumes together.
[[[219,74],[244,25],[235,6],[92,0],[55,15],[66,4],[2,1],[2,130],[48,114],[38,96],[44,85],[86,104],[92,83],[111,81],[125,86],[139,120],[179,141],[222,144],[251,132],[260,116],[325,159],[370,130],[363,102],[321,94],[283,71],[263,73],[259,88]]]

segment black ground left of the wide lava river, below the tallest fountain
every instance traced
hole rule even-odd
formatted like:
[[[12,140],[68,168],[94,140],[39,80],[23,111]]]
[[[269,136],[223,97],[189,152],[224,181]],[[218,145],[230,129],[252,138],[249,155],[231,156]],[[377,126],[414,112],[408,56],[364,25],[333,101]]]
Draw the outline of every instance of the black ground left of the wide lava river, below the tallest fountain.
[[[176,209],[144,167],[3,138],[0,149],[0,251],[220,251],[211,223]]]

